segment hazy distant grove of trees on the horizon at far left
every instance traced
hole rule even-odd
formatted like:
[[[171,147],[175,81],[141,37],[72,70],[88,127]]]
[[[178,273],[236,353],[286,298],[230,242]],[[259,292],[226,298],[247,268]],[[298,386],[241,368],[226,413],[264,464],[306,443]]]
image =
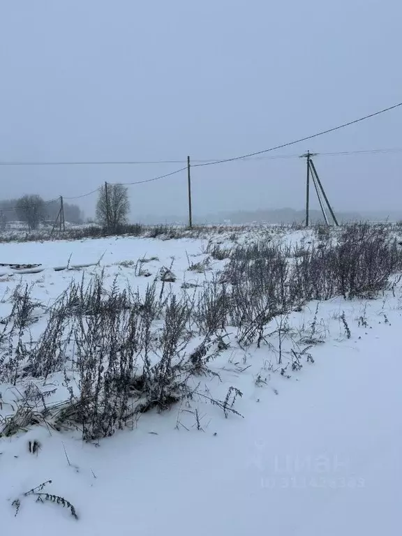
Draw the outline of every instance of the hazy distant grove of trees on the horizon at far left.
[[[40,195],[23,195],[19,199],[0,200],[0,229],[12,221],[27,223],[29,230],[35,230],[40,223],[56,221],[60,201],[44,202]],[[80,224],[84,214],[77,204],[64,203],[64,220]]]

